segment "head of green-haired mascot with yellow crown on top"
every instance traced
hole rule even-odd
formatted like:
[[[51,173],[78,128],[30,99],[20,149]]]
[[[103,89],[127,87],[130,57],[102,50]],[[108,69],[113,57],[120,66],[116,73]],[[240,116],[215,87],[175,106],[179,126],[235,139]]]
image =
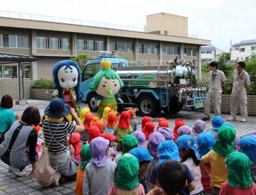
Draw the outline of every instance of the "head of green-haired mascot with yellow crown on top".
[[[114,96],[119,92],[121,87],[124,87],[124,83],[120,79],[117,72],[114,72],[111,68],[110,61],[100,62],[102,70],[95,75],[93,82],[90,83],[90,89],[96,91],[100,96]]]

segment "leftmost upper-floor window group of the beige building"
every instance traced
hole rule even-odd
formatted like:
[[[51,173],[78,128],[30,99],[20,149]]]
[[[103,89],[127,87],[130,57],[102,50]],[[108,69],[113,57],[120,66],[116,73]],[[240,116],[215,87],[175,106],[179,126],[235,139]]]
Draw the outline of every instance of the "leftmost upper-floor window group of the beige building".
[[[29,37],[27,35],[0,34],[0,47],[29,48]]]

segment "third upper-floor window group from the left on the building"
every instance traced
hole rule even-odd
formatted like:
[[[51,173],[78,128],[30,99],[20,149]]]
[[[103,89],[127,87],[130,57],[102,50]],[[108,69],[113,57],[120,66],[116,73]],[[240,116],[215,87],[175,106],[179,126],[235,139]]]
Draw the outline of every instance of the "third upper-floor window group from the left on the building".
[[[78,51],[103,51],[105,50],[105,43],[102,40],[77,40]]]

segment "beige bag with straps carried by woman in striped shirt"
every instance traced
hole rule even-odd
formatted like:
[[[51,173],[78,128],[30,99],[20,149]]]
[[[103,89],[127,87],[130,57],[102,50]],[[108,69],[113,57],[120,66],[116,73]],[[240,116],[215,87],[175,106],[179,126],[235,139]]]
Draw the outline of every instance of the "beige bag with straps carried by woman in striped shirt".
[[[48,128],[50,130],[49,121],[48,121]],[[58,130],[58,127],[56,131]],[[55,131],[55,133],[56,133]],[[54,133],[54,135],[55,135]],[[50,142],[55,139],[53,133],[50,130],[50,134],[52,135],[52,138],[50,139]],[[56,139],[55,139],[56,140]],[[58,186],[58,180],[60,178],[60,173],[56,170],[58,169],[58,163],[60,162],[60,157],[58,159],[58,163],[55,169],[50,166],[50,159],[48,155],[48,147],[44,148],[42,152],[42,156],[38,162],[36,162],[36,169],[35,169],[35,179],[38,182],[38,184],[41,184],[41,186],[50,186],[50,184],[53,184],[55,186]],[[64,147],[64,145],[61,145],[61,147]],[[60,155],[61,156],[61,155]]]

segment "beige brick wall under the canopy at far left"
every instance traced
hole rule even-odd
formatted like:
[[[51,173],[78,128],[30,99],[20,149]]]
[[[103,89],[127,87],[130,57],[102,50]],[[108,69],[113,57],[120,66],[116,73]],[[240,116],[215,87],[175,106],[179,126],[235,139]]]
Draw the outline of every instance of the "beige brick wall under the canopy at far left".
[[[33,80],[24,79],[24,97],[31,98],[30,89]],[[9,94],[13,99],[18,99],[18,79],[0,79],[0,98]]]

